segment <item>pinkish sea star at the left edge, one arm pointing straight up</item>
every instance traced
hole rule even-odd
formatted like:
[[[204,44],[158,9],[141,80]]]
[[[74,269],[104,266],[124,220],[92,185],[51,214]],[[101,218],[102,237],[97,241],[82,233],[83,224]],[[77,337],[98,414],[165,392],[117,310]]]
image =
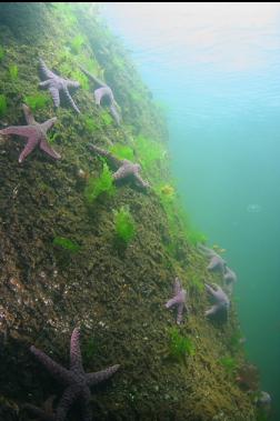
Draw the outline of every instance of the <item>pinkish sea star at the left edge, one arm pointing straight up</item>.
[[[19,157],[19,162],[24,161],[24,159],[32,152],[36,147],[39,147],[43,152],[48,153],[54,159],[60,159],[60,154],[56,152],[47,140],[47,131],[54,124],[57,118],[53,117],[43,123],[38,123],[29,107],[24,103],[22,104],[24,117],[28,126],[11,126],[7,129],[0,130],[0,134],[18,134],[23,138],[28,138],[27,146]]]

